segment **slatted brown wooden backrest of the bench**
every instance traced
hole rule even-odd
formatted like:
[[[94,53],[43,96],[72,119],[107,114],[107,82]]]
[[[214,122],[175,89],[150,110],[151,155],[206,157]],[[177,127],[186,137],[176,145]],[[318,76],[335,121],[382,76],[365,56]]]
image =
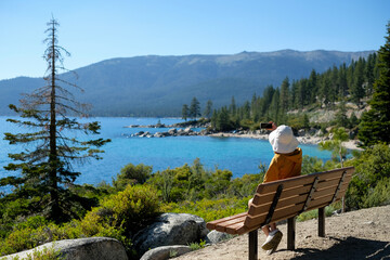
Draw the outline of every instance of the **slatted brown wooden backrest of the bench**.
[[[337,202],[344,196],[353,172],[353,167],[347,167],[260,184],[244,225],[251,230]]]

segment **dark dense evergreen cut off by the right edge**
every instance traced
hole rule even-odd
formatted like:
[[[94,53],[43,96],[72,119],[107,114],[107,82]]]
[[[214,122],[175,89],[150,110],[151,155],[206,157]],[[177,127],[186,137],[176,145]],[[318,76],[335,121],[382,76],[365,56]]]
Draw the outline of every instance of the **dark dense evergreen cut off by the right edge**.
[[[374,83],[370,109],[363,114],[359,139],[365,146],[390,143],[390,22],[386,43],[378,51],[379,78]]]

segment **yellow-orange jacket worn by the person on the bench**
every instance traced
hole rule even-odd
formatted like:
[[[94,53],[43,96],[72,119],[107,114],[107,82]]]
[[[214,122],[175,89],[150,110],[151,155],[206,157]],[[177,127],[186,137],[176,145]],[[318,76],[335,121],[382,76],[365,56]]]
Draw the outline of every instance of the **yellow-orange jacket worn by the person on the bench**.
[[[289,154],[277,154],[271,160],[264,176],[265,182],[277,181],[286,178],[300,176],[302,168],[302,150],[296,148]]]

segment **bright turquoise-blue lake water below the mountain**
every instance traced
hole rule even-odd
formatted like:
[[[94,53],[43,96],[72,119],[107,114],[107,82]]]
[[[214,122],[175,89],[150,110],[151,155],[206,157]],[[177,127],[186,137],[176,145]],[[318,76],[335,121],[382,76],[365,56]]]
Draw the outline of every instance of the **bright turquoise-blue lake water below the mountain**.
[[[11,162],[9,153],[20,153],[22,145],[9,145],[3,139],[4,132],[21,132],[21,128],[5,121],[6,117],[0,117],[0,178],[14,174],[6,172],[3,166]],[[260,162],[269,165],[273,157],[271,145],[264,140],[243,138],[211,138],[211,136],[170,136],[170,138],[129,138],[138,131],[168,131],[168,129],[140,129],[125,128],[130,125],[171,125],[182,121],[176,118],[90,118],[101,122],[102,131],[99,138],[112,139],[112,142],[103,147],[105,153],[102,160],[90,160],[82,166],[75,166],[81,172],[77,183],[98,184],[102,181],[112,182],[125,165],[145,164],[153,166],[154,171],[176,168],[184,164],[192,164],[199,158],[207,169],[229,169],[233,177],[242,177],[245,173],[259,172]],[[83,138],[80,135],[79,138]],[[90,138],[98,138],[90,136]],[[329,152],[320,151],[315,145],[300,145],[303,155],[316,156],[327,160]]]

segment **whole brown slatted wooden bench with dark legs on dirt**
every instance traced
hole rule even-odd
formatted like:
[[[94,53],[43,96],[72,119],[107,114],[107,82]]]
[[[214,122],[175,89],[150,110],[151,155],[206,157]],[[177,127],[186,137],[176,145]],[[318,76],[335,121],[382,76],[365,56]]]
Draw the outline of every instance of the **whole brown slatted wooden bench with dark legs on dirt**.
[[[258,259],[258,232],[287,219],[287,249],[295,249],[296,217],[318,209],[318,236],[325,236],[325,207],[344,196],[353,167],[260,184],[247,212],[214,220],[207,229],[232,235],[249,233],[249,260]]]

